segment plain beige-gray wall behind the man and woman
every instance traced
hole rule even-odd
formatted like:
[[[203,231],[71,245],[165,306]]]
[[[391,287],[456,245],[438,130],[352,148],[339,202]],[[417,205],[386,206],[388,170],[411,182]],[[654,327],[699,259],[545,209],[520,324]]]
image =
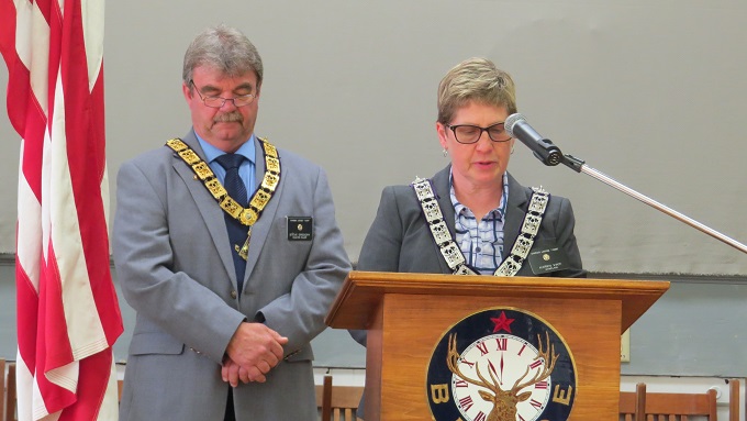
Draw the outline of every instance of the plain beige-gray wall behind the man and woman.
[[[735,0],[110,1],[110,179],[188,130],[182,54],[223,21],[265,59],[258,133],[327,169],[353,259],[381,188],[446,164],[436,85],[470,56],[514,75],[520,110],[565,153],[745,242],[746,20]],[[5,119],[0,110],[0,252],[12,253],[19,142]],[[572,200],[592,270],[747,273],[743,253],[583,174],[544,167],[523,145],[510,170]]]

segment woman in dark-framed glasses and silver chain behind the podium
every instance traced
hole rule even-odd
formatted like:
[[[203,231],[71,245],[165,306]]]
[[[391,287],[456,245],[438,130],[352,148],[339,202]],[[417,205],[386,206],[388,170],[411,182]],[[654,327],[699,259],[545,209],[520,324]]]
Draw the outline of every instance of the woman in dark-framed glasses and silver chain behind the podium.
[[[383,189],[358,270],[586,276],[570,201],[506,171],[515,140],[503,122],[514,112],[514,82],[492,62],[470,58],[446,74],[436,132],[450,164]]]

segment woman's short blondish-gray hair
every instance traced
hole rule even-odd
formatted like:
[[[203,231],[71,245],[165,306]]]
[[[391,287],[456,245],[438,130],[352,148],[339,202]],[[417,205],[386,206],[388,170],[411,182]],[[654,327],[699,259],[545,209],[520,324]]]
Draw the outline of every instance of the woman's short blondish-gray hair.
[[[472,101],[515,113],[516,88],[511,75],[487,58],[459,63],[438,84],[438,122],[448,124],[459,108]]]

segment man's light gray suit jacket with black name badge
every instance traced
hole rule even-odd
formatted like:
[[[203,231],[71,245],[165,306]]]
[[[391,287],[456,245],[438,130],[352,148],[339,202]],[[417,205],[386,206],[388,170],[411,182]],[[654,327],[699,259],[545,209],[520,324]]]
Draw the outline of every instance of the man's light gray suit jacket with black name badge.
[[[193,132],[183,139],[202,159]],[[265,173],[257,142],[257,180]],[[223,210],[191,168],[164,146],[122,165],[113,250],[126,301],[136,311],[120,417],[222,420],[224,352],[243,321],[289,339],[267,383],[239,384],[237,420],[316,417],[310,341],[349,272],[326,175],[283,149],[280,181],[252,229],[244,289]],[[291,241],[288,217],[313,218],[313,240]]]

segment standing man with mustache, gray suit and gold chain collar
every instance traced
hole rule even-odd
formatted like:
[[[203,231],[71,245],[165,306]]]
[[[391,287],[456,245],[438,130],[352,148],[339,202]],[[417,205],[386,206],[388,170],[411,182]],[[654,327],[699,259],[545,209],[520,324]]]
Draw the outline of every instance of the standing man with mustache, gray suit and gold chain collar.
[[[315,420],[310,341],[350,269],[326,176],[254,134],[263,65],[241,32],[199,34],[182,77],[192,130],[118,177],[137,312],[120,418]]]

